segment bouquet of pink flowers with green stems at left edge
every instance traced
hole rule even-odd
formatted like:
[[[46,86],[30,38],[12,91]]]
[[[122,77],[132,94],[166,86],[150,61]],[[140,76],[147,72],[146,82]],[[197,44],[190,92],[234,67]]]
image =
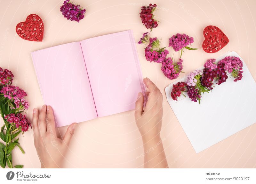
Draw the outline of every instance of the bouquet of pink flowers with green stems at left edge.
[[[1,127],[0,138],[0,155],[4,159],[0,159],[0,166],[5,168],[6,164],[9,168],[22,168],[22,165],[12,165],[12,150],[18,146],[24,154],[19,141],[19,134],[28,131],[31,124],[22,113],[28,109],[28,101],[25,99],[27,93],[17,86],[12,85],[13,74],[8,69],[0,67],[0,114],[4,120]]]

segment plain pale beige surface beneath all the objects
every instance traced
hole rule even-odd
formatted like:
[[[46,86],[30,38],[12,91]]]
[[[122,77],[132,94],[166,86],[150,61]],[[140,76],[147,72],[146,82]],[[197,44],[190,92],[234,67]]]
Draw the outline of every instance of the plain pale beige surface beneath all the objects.
[[[183,1],[93,1],[76,0],[86,9],[85,18],[79,23],[65,19],[60,13],[63,1],[58,0],[10,0],[0,1],[0,66],[15,75],[14,85],[28,93],[31,119],[33,107],[43,105],[30,52],[63,43],[80,41],[108,33],[132,29],[138,41],[147,29],[142,25],[139,12],[143,5],[156,3],[155,12],[159,26],[151,35],[162,38],[162,46],[168,46],[169,38],[176,33],[194,37],[196,51],[185,51],[185,74],[200,67],[210,58],[217,58],[227,51],[236,51],[247,64],[256,79],[255,55],[255,6],[254,0],[183,0]],[[43,42],[21,39],[15,32],[19,22],[36,13],[44,21]],[[201,47],[203,29],[216,25],[228,36],[230,42],[218,53],[205,53]],[[164,88],[172,81],[162,73],[159,63],[145,59],[142,45],[137,45],[144,77],[157,84],[164,95],[163,144],[169,167],[256,167],[256,124],[196,154],[177,118],[166,101]],[[168,48],[172,55],[174,52]],[[174,53],[174,58],[178,58]],[[245,89],[246,95],[246,89]],[[239,108],[239,107],[237,107]],[[217,111],[217,110],[216,110]],[[215,112],[213,112],[215,113]],[[191,118],[193,123],[193,118]],[[1,120],[1,124],[3,121]],[[60,132],[66,127],[60,128]],[[34,148],[33,130],[20,136],[20,144],[26,154],[13,151],[13,162],[25,168],[40,167]],[[134,122],[134,112],[124,112],[79,123],[72,139],[65,167],[143,167],[143,147]]]

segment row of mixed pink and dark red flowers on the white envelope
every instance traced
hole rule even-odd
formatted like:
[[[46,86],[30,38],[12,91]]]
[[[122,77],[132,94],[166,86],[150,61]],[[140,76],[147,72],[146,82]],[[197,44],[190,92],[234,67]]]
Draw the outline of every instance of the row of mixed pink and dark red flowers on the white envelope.
[[[227,81],[228,74],[231,74],[234,81],[239,81],[243,77],[243,62],[238,57],[227,56],[218,63],[215,59],[207,60],[203,70],[195,70],[191,72],[186,82],[178,82],[173,84],[171,97],[178,100],[180,95],[187,92],[188,97],[193,102],[199,102],[204,92],[209,93],[217,85]],[[185,95],[184,95],[185,96]]]

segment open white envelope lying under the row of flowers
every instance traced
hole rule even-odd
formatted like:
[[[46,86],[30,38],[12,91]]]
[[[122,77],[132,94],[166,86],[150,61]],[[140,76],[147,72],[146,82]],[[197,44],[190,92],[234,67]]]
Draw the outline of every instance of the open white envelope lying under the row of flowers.
[[[230,52],[221,56],[236,56]],[[181,95],[174,101],[170,95],[172,85],[178,81],[186,81],[186,77],[171,83],[165,88],[167,101],[175,116],[179,120],[190,143],[196,153],[220,142],[236,132],[256,122],[256,83],[243,61],[243,78],[234,82],[228,75],[228,80],[215,88],[210,93],[204,93],[200,104]]]

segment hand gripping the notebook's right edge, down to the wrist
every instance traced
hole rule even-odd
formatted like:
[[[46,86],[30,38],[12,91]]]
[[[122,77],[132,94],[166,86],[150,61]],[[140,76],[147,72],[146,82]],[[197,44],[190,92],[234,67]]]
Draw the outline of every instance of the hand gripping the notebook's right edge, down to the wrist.
[[[147,104],[143,110],[144,97],[142,93],[138,94],[135,105],[135,120],[140,131],[143,142],[152,139],[160,140],[160,131],[163,118],[163,96],[156,85],[148,78],[143,79],[148,88]]]

